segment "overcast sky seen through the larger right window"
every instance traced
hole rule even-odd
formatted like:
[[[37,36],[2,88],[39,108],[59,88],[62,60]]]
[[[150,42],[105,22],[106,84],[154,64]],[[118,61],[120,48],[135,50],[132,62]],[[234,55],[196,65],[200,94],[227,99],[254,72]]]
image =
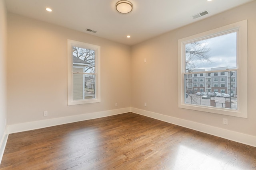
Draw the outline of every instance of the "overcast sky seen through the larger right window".
[[[205,68],[206,71],[216,67],[236,67],[236,33],[229,33],[207,40],[199,41],[206,43],[210,48],[210,63],[195,60],[194,64],[198,69]]]

